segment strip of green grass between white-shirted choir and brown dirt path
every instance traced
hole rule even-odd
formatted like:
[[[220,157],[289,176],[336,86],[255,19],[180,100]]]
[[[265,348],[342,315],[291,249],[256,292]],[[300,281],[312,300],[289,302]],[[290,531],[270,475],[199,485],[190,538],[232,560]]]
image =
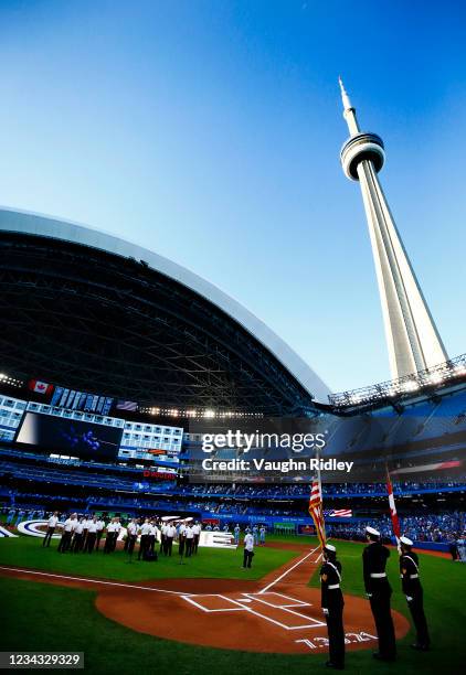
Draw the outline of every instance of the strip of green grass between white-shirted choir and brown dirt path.
[[[133,562],[124,551],[110,555],[99,553],[60,554],[56,550],[59,540],[52,540],[50,548],[42,547],[42,539],[21,536],[18,539],[0,538],[0,565],[11,567],[31,567],[75,577],[100,577],[121,581],[144,581],[150,579],[177,579],[179,577],[260,579],[296,556],[293,550],[277,548],[258,548],[254,556],[253,567],[242,569],[243,551],[200,548],[195,556],[184,558],[180,565],[178,547],[173,546],[171,558],[159,556],[157,562]],[[103,548],[100,544],[100,549]]]

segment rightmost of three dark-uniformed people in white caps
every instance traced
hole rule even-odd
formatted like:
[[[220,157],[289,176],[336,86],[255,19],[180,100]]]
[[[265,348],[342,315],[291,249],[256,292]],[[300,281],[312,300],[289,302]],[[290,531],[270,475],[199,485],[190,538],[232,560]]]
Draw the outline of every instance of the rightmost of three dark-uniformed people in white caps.
[[[431,644],[427,622],[424,614],[423,590],[420,580],[419,558],[412,550],[413,542],[407,537],[400,537],[400,575],[401,587],[406,596],[407,607],[416,629],[416,641],[413,650],[426,652]]]

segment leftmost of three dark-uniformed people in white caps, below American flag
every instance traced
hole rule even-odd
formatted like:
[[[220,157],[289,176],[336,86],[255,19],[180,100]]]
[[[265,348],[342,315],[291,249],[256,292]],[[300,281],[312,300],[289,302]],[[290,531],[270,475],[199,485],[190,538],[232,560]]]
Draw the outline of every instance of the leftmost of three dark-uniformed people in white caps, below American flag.
[[[329,661],[326,666],[345,668],[343,594],[341,592],[341,562],[331,544],[324,547],[324,565],[320,568],[321,607],[327,621]]]

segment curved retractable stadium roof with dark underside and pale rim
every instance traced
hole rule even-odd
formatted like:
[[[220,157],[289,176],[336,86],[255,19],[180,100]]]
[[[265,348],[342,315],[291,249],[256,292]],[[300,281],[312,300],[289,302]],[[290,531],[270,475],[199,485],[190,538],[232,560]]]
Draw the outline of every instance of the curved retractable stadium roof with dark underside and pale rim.
[[[296,414],[328,387],[260,319],[176,262],[109,234],[0,208],[9,375],[139,403]]]

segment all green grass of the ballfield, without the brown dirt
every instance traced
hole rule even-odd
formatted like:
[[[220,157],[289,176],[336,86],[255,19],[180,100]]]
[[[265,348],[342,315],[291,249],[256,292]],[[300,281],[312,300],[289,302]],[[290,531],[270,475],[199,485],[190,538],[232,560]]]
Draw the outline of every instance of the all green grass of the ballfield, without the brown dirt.
[[[284,540],[303,543],[303,538]],[[306,539],[307,540],[307,539]],[[309,547],[315,547],[314,540],[308,540]],[[361,574],[362,545],[337,542],[340,559],[343,564],[343,589],[347,593],[363,594]],[[8,553],[6,553],[8,551]],[[226,554],[226,557],[216,554]],[[38,564],[41,559],[42,565]],[[176,571],[182,574],[166,574],[165,576],[204,576],[244,578],[237,574],[241,551],[202,550],[197,559],[202,566],[200,574],[191,575],[184,566],[173,565]],[[279,554],[279,555],[278,555]],[[117,558],[121,557],[121,560]],[[227,556],[231,560],[227,560]],[[285,557],[283,557],[285,556]],[[282,565],[296,551],[276,550],[273,548],[260,549],[255,557],[256,569],[260,558],[267,571]],[[105,576],[114,579],[147,579],[162,577],[162,565],[157,571],[150,571],[150,577],[128,577],[139,574],[137,565],[125,565],[123,554],[117,554],[105,569],[95,574],[96,565],[100,558],[83,561],[87,572],[80,571],[75,565],[81,564],[84,556],[60,556],[55,550],[43,551],[40,542],[21,537],[14,542],[0,540],[0,564],[30,566],[55,571],[73,572],[83,576]],[[59,558],[61,561],[55,561]],[[103,558],[103,556],[102,556]],[[398,556],[392,551],[389,575],[394,588],[393,608],[409,615],[404,596],[399,588]],[[31,562],[34,560],[34,564]],[[8,561],[6,561],[8,560]],[[51,565],[68,565],[70,568],[56,570]],[[74,566],[73,566],[74,561]],[[171,571],[170,560],[167,570]],[[174,562],[174,560],[173,560]],[[150,565],[150,569],[159,564]],[[194,565],[194,562],[193,562]],[[140,564],[142,568],[142,564]],[[131,571],[127,571],[130,568]],[[133,571],[135,569],[135,572]],[[160,571],[159,571],[160,570]],[[202,570],[204,574],[202,574]],[[192,570],[198,571],[198,570]],[[449,675],[464,669],[465,641],[464,626],[466,623],[465,589],[466,566],[454,564],[448,559],[421,555],[421,571],[425,589],[425,608],[431,626],[433,649],[428,653],[417,653],[410,650],[413,641],[412,633],[399,643],[399,660],[394,664],[375,663],[371,651],[351,652],[347,658],[347,672],[358,674],[402,674],[414,675],[420,673],[441,673]],[[222,574],[223,572],[223,574]],[[155,577],[153,575],[157,575]],[[317,585],[315,577],[311,585]],[[294,675],[306,672],[327,672],[324,667],[325,655],[282,655],[254,654],[193,647],[182,643],[159,640],[130,631],[100,615],[94,608],[95,593],[86,590],[60,588],[46,583],[0,578],[0,647],[1,650],[76,650],[84,651],[87,673],[139,672],[144,674],[176,673],[177,675],[198,675],[205,672],[241,675]]]

